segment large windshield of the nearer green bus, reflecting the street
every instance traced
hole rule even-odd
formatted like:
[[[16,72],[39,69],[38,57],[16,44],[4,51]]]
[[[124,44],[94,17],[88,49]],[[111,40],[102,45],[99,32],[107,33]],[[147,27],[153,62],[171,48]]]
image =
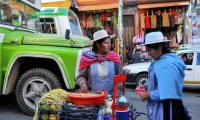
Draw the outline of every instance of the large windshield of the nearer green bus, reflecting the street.
[[[30,6],[16,0],[0,2],[0,24],[37,31],[38,23],[38,12]]]

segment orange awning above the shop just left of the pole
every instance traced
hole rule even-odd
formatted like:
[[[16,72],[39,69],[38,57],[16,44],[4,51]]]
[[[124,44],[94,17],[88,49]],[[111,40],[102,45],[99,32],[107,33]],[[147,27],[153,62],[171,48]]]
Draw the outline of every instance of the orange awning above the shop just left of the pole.
[[[118,8],[118,0],[76,0],[79,11]]]

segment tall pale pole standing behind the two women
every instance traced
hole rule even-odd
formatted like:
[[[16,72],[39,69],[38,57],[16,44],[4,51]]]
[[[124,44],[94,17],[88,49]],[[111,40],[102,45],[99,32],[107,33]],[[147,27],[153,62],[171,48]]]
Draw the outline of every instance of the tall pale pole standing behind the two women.
[[[120,56],[120,60],[122,62],[122,64],[124,63],[123,61],[123,2],[122,0],[119,0],[119,4],[118,4],[118,35],[119,35],[119,56]]]

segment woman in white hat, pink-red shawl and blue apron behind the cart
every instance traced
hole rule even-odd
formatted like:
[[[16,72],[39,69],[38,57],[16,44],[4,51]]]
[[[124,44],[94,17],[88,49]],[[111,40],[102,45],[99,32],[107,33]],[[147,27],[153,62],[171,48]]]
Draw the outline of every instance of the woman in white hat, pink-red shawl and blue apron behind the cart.
[[[76,83],[80,86],[81,92],[104,90],[112,95],[114,75],[123,73],[119,56],[114,51],[110,51],[110,39],[113,37],[114,35],[109,36],[105,30],[93,34],[92,51],[83,53],[79,65]],[[122,88],[122,83],[119,83],[117,95]]]

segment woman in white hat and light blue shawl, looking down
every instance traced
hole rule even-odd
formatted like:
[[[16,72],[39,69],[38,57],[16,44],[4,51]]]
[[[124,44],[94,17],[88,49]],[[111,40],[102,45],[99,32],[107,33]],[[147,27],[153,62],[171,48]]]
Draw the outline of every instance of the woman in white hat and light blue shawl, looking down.
[[[182,89],[186,66],[183,60],[171,53],[161,32],[151,32],[145,36],[148,54],[154,59],[148,68],[148,82],[138,86],[146,89],[140,93],[147,100],[148,120],[190,120],[182,103]]]

